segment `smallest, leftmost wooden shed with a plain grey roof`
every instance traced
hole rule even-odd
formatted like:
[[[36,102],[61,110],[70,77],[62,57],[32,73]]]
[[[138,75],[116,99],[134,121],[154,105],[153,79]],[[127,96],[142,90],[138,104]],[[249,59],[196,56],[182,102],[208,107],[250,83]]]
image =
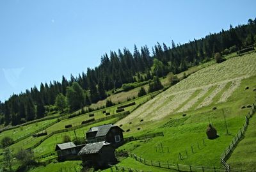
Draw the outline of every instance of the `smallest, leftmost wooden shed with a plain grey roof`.
[[[56,145],[55,151],[58,154],[58,160],[79,160],[77,153],[84,145],[75,145],[73,142],[61,143]]]

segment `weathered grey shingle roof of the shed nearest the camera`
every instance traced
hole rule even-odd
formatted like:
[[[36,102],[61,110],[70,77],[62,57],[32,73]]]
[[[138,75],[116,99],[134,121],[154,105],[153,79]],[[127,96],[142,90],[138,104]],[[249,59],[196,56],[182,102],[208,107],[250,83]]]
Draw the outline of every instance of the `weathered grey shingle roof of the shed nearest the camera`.
[[[104,141],[100,141],[97,143],[88,143],[80,150],[78,155],[97,153],[101,150],[103,146],[106,146],[106,145],[110,145],[110,143],[106,143]]]

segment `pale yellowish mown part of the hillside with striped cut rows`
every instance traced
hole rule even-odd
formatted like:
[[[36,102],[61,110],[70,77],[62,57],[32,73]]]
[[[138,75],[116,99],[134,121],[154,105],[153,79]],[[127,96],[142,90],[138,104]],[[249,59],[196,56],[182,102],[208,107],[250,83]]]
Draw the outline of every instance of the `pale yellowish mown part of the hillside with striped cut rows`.
[[[116,124],[125,126],[133,119],[143,119],[145,122],[157,121],[173,113],[200,109],[212,104],[218,93],[222,94],[215,103],[225,102],[239,87],[242,79],[256,75],[255,68],[255,53],[203,68],[143,104]],[[227,89],[223,90],[225,88]],[[140,121],[136,120],[133,125],[136,124],[140,125]]]

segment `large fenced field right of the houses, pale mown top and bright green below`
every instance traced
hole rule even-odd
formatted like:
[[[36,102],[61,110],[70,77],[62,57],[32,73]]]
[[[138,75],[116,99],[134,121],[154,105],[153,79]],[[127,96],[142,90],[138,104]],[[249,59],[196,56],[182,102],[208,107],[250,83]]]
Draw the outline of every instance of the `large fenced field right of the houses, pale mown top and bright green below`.
[[[129,132],[124,132],[125,137],[149,132],[164,132],[164,137],[156,137],[142,143],[131,142],[118,149],[132,151],[148,160],[163,162],[168,160],[179,164],[221,168],[220,155],[239,128],[243,126],[244,116],[250,110],[241,109],[241,106],[255,103],[256,91],[253,91],[256,81],[255,68],[256,55],[252,53],[228,59],[221,64],[211,65],[190,75],[188,79],[180,81],[172,88],[157,95],[116,123],[122,124],[124,130],[130,129]],[[220,86],[221,89],[216,91]],[[250,89],[244,90],[247,86]],[[207,89],[204,94],[197,97],[205,88]],[[197,101],[192,101],[194,98]],[[186,111],[178,112],[189,102],[193,104],[189,105]],[[202,102],[207,103],[199,106]],[[212,107],[217,109],[213,110]],[[223,112],[227,119],[228,134]],[[182,114],[187,115],[182,116]],[[205,130],[209,121],[218,131],[220,137],[217,139],[207,139]],[[202,139],[205,141],[205,146]],[[163,152],[156,151],[156,147],[160,144],[163,145]],[[194,153],[191,151],[191,146],[193,146]],[[252,147],[252,149],[255,151],[255,148]],[[186,155],[186,150],[188,155]],[[180,160],[179,153],[184,159]],[[245,156],[246,153],[240,159]],[[248,159],[255,163],[253,158]],[[136,168],[133,165],[129,167]]]

